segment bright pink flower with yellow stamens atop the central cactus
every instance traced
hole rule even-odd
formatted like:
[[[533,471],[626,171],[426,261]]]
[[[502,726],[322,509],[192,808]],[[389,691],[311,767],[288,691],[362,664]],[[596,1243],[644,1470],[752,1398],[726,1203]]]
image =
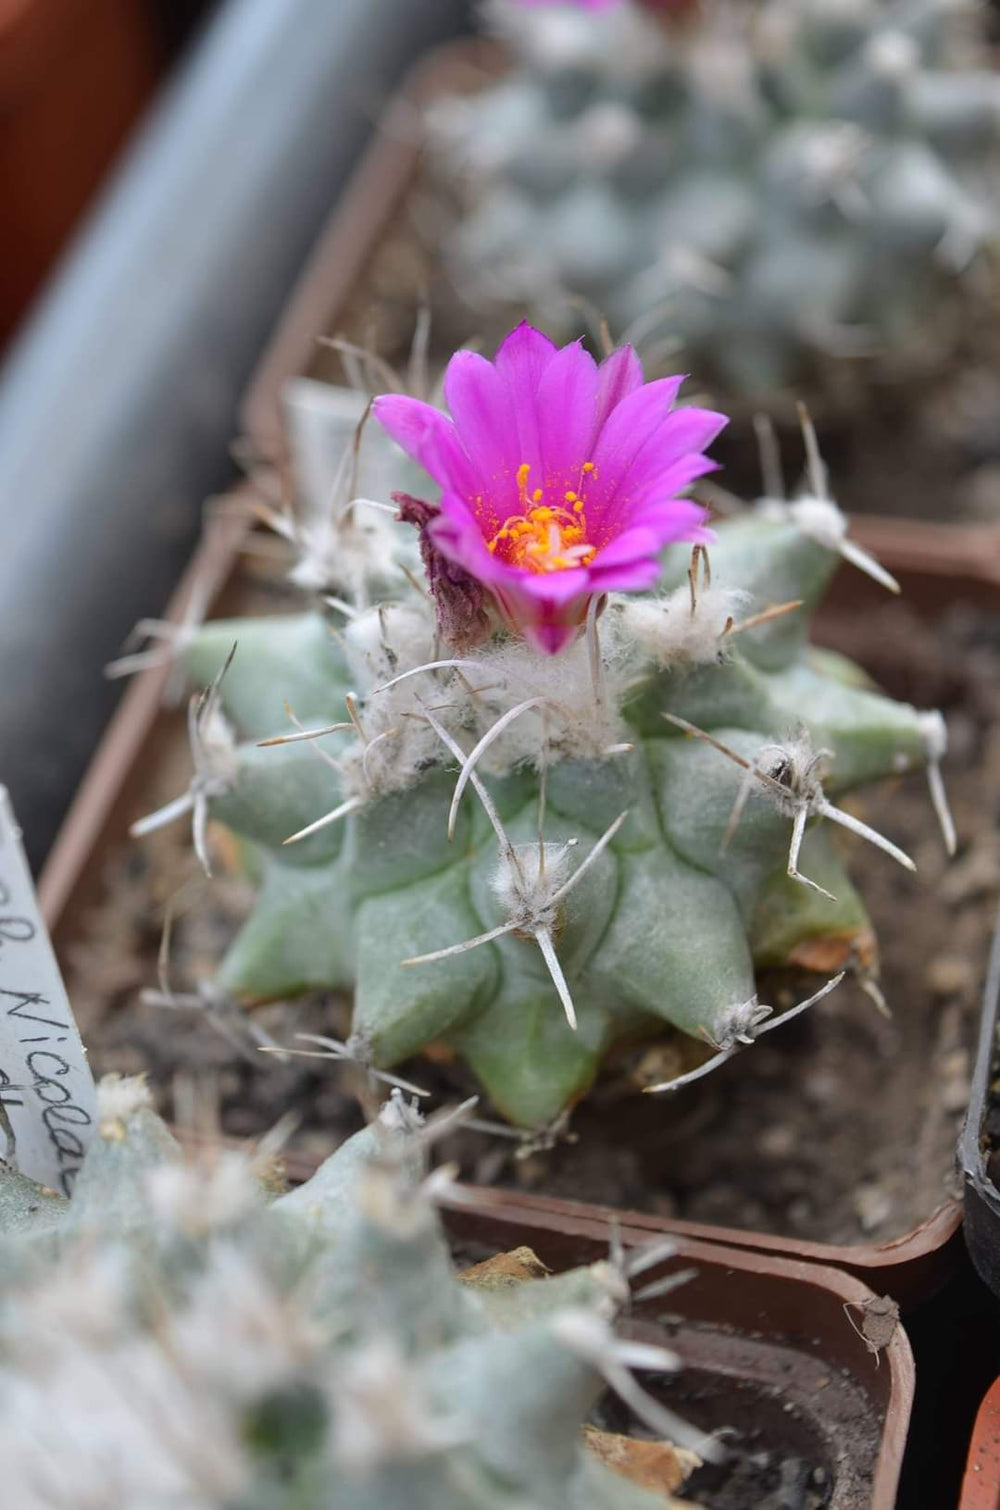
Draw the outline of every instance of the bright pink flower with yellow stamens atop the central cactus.
[[[645,382],[630,346],[598,367],[524,322],[492,362],[456,352],[452,418],[402,394],[376,399],[375,415],[441,486],[434,545],[554,654],[594,595],[651,587],[665,545],[713,538],[677,495],[715,470],[702,448],[727,418],[674,408],[683,381]]]

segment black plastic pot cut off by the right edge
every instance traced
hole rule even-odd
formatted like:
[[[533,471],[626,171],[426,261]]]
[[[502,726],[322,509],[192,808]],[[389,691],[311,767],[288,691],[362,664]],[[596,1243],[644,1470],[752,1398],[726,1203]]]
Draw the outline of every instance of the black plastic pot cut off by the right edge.
[[[989,1087],[995,1077],[994,1065],[1000,1046],[997,1043],[998,1016],[1000,923],[989,956],[968,1113],[958,1145],[959,1166],[965,1181],[962,1202],[965,1243],[979,1276],[995,1296],[1000,1296],[1000,1190],[994,1182],[997,1169],[989,1157],[986,1119],[989,1116]]]

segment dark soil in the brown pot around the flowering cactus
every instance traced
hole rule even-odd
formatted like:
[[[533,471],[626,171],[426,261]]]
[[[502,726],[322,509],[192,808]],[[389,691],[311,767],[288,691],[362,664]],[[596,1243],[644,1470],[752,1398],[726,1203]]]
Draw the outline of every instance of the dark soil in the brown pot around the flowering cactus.
[[[920,776],[884,784],[855,811],[917,861],[909,876],[849,841],[846,853],[881,942],[890,1021],[844,985],[787,1028],[674,1096],[642,1096],[675,1054],[669,1034],[607,1066],[548,1151],[464,1131],[444,1149],[467,1178],[665,1217],[755,1228],[831,1243],[888,1241],[953,1193],[953,1149],[967,1102],[988,938],[1000,891],[1000,621],[952,610],[931,628],[905,602],[834,619],[823,639],[856,655],[882,687],[944,708],[946,779],[959,830],[947,864]],[[187,782],[181,720],[163,722],[147,803]],[[171,985],[208,978],[251,889],[225,873],[202,882],[184,824],[110,855],[100,894],[62,939],[63,965],[95,1072],[148,1071],[163,1110],[181,1120],[192,1087],[236,1137],[299,1119],[293,1148],[316,1158],[361,1125],[355,1071],[239,1052],[202,1013],[139,1004],[156,983],[165,903],[180,891]],[[814,977],[761,982],[792,1004]],[[310,998],[255,1012],[282,1043],[298,1031],[343,1036],[347,1004]],[[435,1098],[473,1089],[446,1059],[400,1068]],[[488,1108],[483,1116],[489,1116]]]

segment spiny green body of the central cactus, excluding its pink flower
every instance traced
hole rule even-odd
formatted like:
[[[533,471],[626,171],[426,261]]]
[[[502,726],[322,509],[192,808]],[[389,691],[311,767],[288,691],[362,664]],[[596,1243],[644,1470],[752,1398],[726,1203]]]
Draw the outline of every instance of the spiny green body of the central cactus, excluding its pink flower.
[[[373,427],[367,445],[391,451]],[[666,590],[612,595],[559,655],[498,633],[455,657],[412,572],[393,577],[412,530],[385,528],[372,575],[391,598],[213,622],[186,651],[216,678],[198,719],[219,750],[187,799],[260,883],[216,991],[352,989],[360,1060],[443,1040],[505,1116],[542,1126],[616,1042],[671,1024],[692,1066],[751,1042],[758,966],[822,953],[876,989],[864,903],[817,820],[850,823],[831,805],[860,784],[937,772],[943,726],[808,645],[850,553],[832,501],[724,522],[710,581],[672,548]]]

